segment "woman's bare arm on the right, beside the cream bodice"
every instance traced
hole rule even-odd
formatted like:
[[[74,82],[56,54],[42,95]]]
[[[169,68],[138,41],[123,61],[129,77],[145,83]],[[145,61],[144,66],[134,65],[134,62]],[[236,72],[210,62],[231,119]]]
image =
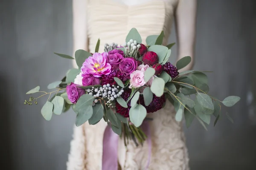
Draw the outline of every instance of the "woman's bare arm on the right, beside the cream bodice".
[[[190,56],[192,61],[181,71],[191,70],[194,65],[197,0],[179,0],[175,14],[178,44],[177,60]]]

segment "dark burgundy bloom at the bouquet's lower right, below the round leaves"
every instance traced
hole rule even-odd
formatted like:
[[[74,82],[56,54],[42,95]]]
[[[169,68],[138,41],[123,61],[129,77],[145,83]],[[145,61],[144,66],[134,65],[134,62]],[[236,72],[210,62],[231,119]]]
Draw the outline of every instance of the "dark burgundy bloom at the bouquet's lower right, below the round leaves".
[[[146,108],[147,113],[153,113],[162,109],[163,104],[165,102],[166,102],[166,98],[164,95],[162,95],[161,97],[157,97],[156,95],[153,94],[152,102],[148,106],[145,106],[143,95],[140,95],[140,104]]]

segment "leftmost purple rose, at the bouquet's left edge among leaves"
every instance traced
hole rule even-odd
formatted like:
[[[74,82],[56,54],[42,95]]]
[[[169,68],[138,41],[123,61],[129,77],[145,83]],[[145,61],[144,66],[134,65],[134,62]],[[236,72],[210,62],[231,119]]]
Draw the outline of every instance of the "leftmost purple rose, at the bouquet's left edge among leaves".
[[[72,103],[76,103],[80,96],[85,94],[85,90],[82,88],[76,87],[76,84],[71,82],[70,85],[67,85],[67,98]]]

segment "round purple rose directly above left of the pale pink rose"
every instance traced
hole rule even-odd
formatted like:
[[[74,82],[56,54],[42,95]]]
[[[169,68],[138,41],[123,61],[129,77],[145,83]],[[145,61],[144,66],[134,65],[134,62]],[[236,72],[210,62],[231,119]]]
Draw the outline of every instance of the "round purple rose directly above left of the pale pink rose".
[[[119,64],[119,70],[125,76],[129,76],[137,68],[138,64],[133,57],[123,58]]]

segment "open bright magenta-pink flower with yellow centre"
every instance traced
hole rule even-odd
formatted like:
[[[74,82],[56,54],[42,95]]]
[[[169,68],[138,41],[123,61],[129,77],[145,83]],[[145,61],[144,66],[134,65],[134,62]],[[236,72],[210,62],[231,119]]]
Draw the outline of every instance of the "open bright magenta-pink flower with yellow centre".
[[[93,57],[85,59],[81,71],[92,74],[94,77],[102,77],[111,73],[111,65],[107,63],[108,53],[94,53]]]

